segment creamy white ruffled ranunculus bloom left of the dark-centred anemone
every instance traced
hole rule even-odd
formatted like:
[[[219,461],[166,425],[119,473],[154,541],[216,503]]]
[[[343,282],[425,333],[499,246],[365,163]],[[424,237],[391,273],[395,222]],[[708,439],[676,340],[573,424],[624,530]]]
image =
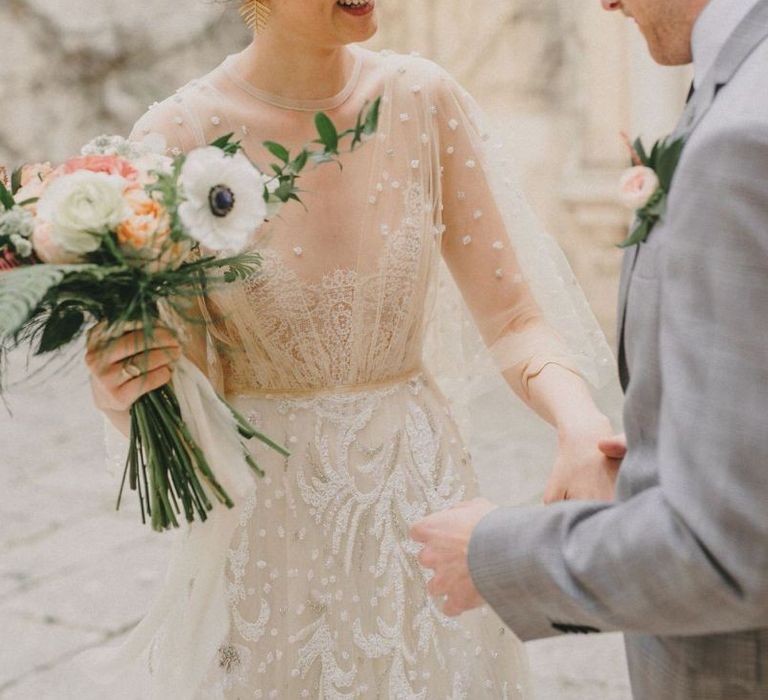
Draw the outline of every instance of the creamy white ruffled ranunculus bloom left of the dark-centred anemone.
[[[84,255],[131,215],[117,175],[78,170],[54,180],[38,203],[38,215],[50,222],[51,240],[61,249]]]

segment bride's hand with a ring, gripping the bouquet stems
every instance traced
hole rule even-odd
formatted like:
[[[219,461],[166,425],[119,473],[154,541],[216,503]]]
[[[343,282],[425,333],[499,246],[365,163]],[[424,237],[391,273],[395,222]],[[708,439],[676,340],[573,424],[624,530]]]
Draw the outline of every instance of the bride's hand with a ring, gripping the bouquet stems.
[[[155,327],[151,340],[136,326],[126,326],[118,337],[109,337],[103,324],[95,326],[88,334],[85,362],[96,407],[128,411],[139,397],[170,381],[180,357],[178,340],[164,326]]]

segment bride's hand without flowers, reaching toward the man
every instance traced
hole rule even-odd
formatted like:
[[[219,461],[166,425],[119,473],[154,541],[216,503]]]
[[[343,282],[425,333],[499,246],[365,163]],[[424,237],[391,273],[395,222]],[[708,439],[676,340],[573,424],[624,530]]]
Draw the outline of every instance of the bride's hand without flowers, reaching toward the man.
[[[560,436],[557,459],[544,492],[545,503],[614,499],[623,454],[618,446],[610,454],[600,449],[610,435],[606,421]]]

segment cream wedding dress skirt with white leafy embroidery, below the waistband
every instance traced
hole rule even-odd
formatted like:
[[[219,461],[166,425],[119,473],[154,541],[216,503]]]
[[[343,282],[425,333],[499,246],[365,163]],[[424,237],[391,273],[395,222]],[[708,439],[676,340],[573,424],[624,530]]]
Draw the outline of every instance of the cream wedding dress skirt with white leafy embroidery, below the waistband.
[[[513,640],[484,615],[445,617],[408,537],[416,519],[474,493],[430,380],[240,400],[295,449],[281,478],[271,469],[257,485],[229,549],[233,629],[216,692],[237,687],[247,656],[243,687],[265,698],[506,697],[492,660]]]

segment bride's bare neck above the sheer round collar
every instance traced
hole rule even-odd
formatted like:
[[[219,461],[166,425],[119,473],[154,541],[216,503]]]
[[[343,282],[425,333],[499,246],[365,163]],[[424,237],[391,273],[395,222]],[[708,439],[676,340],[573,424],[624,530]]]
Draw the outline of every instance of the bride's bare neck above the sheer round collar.
[[[344,46],[309,48],[266,32],[245,48],[238,67],[242,77],[260,90],[291,100],[318,100],[344,89],[354,57]]]

